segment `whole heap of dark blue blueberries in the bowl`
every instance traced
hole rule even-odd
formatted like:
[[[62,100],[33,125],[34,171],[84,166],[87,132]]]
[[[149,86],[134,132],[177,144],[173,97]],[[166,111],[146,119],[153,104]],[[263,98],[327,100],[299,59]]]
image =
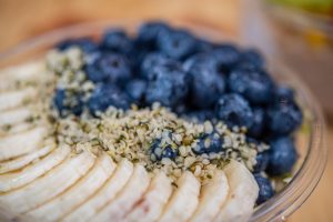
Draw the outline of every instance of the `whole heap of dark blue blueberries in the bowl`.
[[[293,90],[274,82],[258,51],[209,42],[163,22],[143,23],[135,37],[111,29],[99,42],[68,40],[58,49],[72,46],[85,53],[84,72],[95,89],[87,102],[78,97],[74,109],[63,105],[63,92],[59,91],[54,97],[59,112],[72,109],[80,114],[85,108],[94,114],[110,105],[129,109],[132,103],[143,108],[160,102],[181,117],[246,127],[249,141],[271,145],[259,153],[253,172],[261,188],[259,203],[273,195],[261,172],[281,176],[292,170],[296,151],[291,134],[302,123],[302,111]],[[219,152],[222,141],[213,141],[211,148],[195,153]],[[176,154],[167,149],[157,159],[174,159]]]

